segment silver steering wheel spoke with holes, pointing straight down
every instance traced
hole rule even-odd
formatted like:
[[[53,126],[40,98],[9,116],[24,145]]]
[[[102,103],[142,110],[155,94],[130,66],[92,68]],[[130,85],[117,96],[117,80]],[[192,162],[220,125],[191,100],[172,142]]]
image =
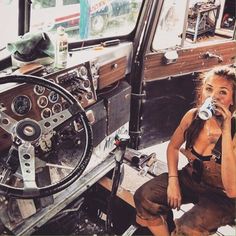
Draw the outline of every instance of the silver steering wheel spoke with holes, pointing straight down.
[[[35,150],[30,142],[25,142],[18,147],[20,168],[24,189],[37,189],[35,182]]]

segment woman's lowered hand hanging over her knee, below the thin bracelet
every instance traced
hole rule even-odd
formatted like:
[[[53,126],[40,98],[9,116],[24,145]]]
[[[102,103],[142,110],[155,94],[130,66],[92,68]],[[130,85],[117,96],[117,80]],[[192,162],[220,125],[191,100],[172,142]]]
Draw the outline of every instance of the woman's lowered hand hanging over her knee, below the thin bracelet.
[[[171,208],[179,210],[181,206],[181,192],[178,177],[169,177],[167,187],[167,201]]]

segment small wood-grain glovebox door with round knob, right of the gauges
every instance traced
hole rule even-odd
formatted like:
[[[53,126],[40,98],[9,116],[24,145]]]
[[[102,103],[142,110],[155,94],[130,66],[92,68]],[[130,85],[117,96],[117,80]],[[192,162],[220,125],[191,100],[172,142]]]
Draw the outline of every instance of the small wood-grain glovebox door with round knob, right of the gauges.
[[[127,58],[121,57],[102,65],[99,69],[98,89],[103,89],[125,76]]]

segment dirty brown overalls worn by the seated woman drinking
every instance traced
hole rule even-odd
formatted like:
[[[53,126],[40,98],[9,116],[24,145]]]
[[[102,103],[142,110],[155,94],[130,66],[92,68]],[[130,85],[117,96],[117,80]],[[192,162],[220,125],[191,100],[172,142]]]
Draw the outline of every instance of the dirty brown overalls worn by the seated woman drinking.
[[[175,220],[176,228],[172,235],[209,235],[220,226],[233,224],[235,199],[224,193],[220,163],[215,161],[213,155],[209,161],[200,161],[199,164],[191,150],[181,149],[181,152],[189,160],[189,164],[178,172],[182,204],[193,203],[194,206]],[[167,204],[167,186],[168,173],[163,173],[136,191],[137,223],[148,227],[167,222],[169,230],[173,230],[173,219],[169,217],[171,208]]]

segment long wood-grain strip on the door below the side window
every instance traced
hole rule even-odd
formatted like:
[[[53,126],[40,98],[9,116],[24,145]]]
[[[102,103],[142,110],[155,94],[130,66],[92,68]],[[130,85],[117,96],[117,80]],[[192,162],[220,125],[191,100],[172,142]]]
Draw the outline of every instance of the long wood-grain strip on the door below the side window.
[[[218,58],[205,57],[206,52],[220,56],[223,61],[218,61]],[[181,49],[177,51],[179,58],[173,64],[163,62],[164,53],[149,54],[145,59],[144,79],[151,81],[173,75],[207,70],[214,65],[232,64],[236,57],[235,52],[236,42]]]

